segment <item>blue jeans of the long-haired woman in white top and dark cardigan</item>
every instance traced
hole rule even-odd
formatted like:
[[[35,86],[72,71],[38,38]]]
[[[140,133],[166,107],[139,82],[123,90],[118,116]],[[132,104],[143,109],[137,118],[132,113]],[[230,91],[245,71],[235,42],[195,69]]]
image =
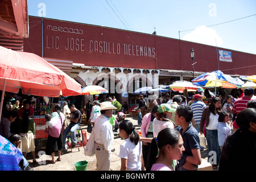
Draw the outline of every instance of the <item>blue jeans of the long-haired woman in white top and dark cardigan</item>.
[[[207,132],[207,146],[208,146],[208,162],[211,164],[217,164],[220,162],[221,150],[218,146],[218,131],[206,130]]]

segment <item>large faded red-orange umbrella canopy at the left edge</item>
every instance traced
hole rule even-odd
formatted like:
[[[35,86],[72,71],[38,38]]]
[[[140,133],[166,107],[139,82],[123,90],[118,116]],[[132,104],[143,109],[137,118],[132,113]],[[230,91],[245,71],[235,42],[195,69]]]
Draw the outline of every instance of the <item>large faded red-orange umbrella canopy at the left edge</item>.
[[[81,94],[81,85],[34,53],[0,46],[0,90],[35,96],[59,97]]]

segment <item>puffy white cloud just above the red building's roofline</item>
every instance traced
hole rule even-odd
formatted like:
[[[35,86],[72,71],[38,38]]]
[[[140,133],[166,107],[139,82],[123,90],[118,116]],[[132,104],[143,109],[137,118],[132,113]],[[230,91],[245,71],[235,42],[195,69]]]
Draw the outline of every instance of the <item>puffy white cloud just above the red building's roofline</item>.
[[[218,36],[216,30],[206,26],[196,27],[196,29],[191,33],[184,35],[182,40],[207,44],[210,46],[216,46],[216,42],[217,46],[221,46],[223,44],[223,40],[220,36]]]

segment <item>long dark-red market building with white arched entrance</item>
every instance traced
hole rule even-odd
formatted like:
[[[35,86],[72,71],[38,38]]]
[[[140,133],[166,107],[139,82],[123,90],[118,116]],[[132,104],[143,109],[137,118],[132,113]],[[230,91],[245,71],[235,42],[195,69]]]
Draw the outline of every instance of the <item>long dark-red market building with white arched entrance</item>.
[[[255,75],[256,55],[158,35],[63,20],[29,17],[24,52],[44,57],[82,86],[102,85],[122,103],[141,86],[192,80],[220,69]],[[195,50],[193,72],[191,48]],[[220,55],[226,54],[226,57]],[[117,94],[118,93],[118,94]],[[122,94],[123,93],[123,94]],[[133,101],[131,101],[133,102]]]

